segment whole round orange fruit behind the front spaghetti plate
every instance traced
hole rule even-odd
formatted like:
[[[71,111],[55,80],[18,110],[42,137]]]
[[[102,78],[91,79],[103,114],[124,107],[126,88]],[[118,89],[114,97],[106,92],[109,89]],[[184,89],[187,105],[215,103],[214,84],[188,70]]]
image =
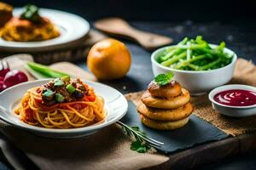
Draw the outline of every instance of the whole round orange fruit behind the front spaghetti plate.
[[[123,42],[104,39],[90,48],[87,66],[98,79],[125,77],[131,66],[131,54]]]

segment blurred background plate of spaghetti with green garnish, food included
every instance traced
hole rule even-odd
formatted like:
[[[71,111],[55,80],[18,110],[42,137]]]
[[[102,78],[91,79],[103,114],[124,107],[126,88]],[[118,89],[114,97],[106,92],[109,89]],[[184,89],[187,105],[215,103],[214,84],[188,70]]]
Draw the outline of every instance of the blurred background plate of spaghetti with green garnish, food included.
[[[89,23],[78,15],[27,5],[15,8],[13,17],[1,28],[0,49],[35,52],[71,47],[81,42],[89,30]]]

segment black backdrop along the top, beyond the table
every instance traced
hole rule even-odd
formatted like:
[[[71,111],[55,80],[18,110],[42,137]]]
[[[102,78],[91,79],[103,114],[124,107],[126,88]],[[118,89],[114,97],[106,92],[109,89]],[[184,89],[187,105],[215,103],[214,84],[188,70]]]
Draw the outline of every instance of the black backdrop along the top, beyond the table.
[[[79,14],[87,20],[119,16],[126,20],[254,22],[253,0],[8,0],[16,6],[27,3]]]

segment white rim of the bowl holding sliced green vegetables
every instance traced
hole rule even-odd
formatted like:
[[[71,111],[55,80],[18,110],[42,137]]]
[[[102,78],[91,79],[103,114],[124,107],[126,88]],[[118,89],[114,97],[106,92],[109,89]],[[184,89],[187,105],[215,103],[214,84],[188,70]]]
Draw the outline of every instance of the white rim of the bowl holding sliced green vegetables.
[[[216,44],[209,44],[210,47],[212,48],[216,48],[218,47],[218,45]],[[177,69],[172,69],[170,67],[166,67],[164,65],[160,65],[160,63],[158,63],[156,60],[155,60],[155,57],[156,57],[156,54],[158,54],[160,51],[162,50],[165,50],[166,48],[169,48],[169,47],[173,47],[175,45],[171,45],[171,46],[166,46],[166,47],[163,47],[163,48],[159,48],[157,50],[155,50],[153,52],[153,54],[151,54],[151,62],[154,64],[154,65],[157,65],[159,66],[160,68],[162,69],[166,69],[168,71],[177,71],[177,72],[187,72],[187,73],[194,73],[194,74],[198,74],[198,73],[205,73],[205,72],[212,72],[212,71],[219,71],[219,70],[222,70],[230,65],[234,65],[236,63],[236,59],[237,59],[237,55],[234,51],[230,50],[229,48],[224,48],[224,52],[228,53],[228,54],[233,54],[233,58],[232,58],[232,61],[229,65],[225,65],[224,67],[221,67],[221,68],[218,68],[218,69],[213,69],[213,70],[210,70],[210,71],[183,71],[183,70],[177,70]]]

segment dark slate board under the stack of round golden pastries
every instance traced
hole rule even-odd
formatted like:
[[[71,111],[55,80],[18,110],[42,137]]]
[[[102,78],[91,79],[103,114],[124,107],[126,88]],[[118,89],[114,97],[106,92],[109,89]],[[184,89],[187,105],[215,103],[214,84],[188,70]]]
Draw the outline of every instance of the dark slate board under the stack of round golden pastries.
[[[186,126],[172,131],[154,130],[143,125],[140,121],[136,106],[129,101],[128,112],[120,122],[129,126],[140,127],[148,137],[164,142],[165,145],[158,150],[169,154],[178,150],[189,149],[197,144],[203,144],[214,140],[225,139],[228,134],[222,132],[212,124],[203,121],[196,116],[190,116]]]

